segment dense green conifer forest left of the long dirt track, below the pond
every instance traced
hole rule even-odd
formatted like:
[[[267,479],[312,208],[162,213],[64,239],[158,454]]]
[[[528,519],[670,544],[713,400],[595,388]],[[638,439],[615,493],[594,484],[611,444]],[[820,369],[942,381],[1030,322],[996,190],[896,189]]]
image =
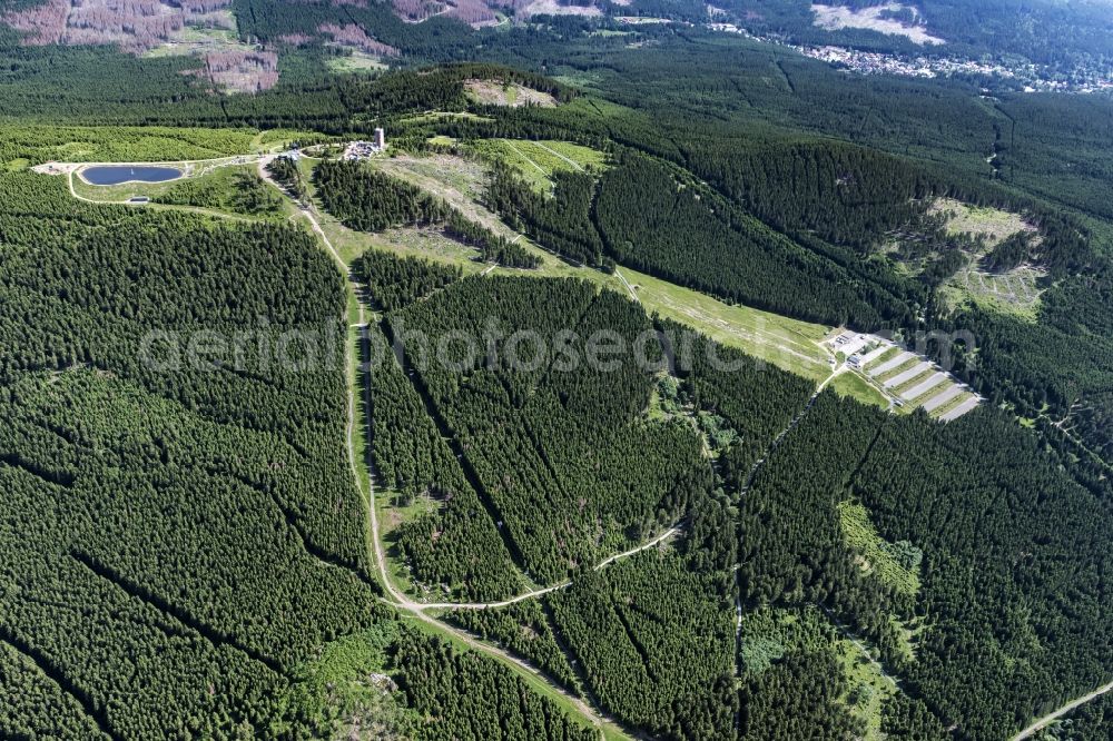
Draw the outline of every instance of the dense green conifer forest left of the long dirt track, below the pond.
[[[2,675],[42,702],[0,732],[265,735],[316,646],[383,620],[342,355],[273,354],[342,342],[338,276],[292,228],[0,188]]]

